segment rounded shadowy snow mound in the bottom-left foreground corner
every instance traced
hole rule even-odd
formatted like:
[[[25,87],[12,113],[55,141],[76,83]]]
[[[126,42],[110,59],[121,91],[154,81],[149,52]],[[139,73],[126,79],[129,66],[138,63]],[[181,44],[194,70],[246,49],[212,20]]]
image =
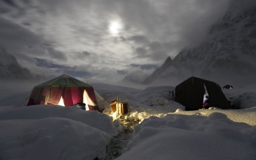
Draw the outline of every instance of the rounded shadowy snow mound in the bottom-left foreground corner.
[[[0,159],[64,160],[104,158],[111,136],[72,119],[0,121]]]

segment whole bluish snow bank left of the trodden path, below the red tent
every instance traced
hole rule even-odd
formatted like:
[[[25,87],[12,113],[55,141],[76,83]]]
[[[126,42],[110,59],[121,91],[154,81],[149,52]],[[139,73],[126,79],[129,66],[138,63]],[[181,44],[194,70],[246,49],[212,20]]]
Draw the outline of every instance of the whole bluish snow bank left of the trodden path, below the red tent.
[[[34,105],[0,110],[0,159],[105,159],[123,125],[98,111]]]

